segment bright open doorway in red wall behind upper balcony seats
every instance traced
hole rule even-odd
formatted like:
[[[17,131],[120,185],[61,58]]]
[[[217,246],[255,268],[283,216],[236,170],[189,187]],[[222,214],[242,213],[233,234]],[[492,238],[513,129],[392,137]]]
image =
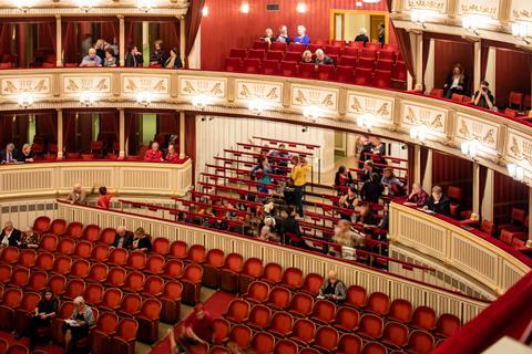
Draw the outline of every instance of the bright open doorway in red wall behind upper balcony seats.
[[[385,11],[331,10],[330,38],[354,41],[360,29],[366,29],[371,42],[379,41],[379,25],[385,24],[385,43],[388,43],[388,13]]]

